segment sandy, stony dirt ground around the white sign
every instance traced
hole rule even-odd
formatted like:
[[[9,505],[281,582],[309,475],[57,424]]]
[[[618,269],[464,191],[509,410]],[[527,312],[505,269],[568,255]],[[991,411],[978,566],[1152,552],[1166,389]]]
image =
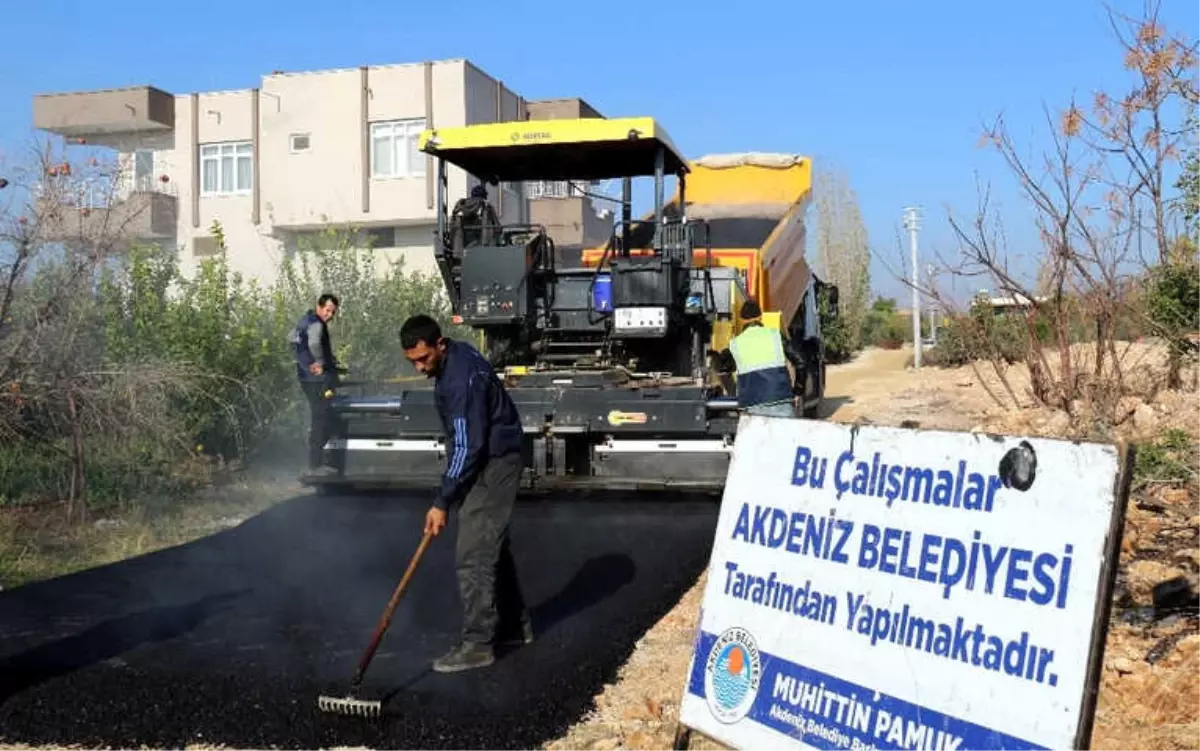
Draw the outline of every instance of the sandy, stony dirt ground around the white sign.
[[[1124,353],[1129,370],[1146,353]],[[1066,435],[1066,413],[1031,409],[1027,374],[1006,373],[1021,409],[1004,409],[989,391],[1009,401],[1001,379],[986,368],[913,371],[911,349],[868,350],[830,368],[827,416],[924,428]],[[982,377],[982,378],[980,378]],[[1168,427],[1200,434],[1200,397],[1164,392],[1152,405],[1130,408],[1124,433],[1152,437]],[[1132,501],[1118,578],[1117,607],[1105,648],[1092,749],[1182,751],[1200,749],[1200,613],[1152,618],[1151,588],[1174,576],[1200,582],[1200,503],[1186,489],[1152,485]],[[671,749],[706,578],[638,642],[618,680],[596,709],[546,751],[648,751]],[[691,749],[724,749],[692,734]]]

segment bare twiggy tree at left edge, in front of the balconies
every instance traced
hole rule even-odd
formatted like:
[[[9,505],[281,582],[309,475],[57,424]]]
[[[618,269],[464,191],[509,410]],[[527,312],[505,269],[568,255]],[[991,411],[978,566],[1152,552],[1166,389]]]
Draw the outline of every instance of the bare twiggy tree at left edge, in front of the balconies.
[[[169,395],[202,387],[186,367],[108,361],[96,288],[119,266],[144,205],[115,160],[41,143],[10,166],[0,204],[0,440],[61,452],[68,518],[86,516],[86,446],[151,427],[172,440]]]

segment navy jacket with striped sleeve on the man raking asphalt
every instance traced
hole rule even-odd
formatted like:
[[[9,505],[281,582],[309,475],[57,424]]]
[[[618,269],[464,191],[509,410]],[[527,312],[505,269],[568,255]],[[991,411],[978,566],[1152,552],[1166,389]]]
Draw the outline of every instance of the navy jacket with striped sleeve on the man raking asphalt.
[[[490,457],[521,451],[521,416],[492,364],[466,342],[446,344],[433,385],[446,432],[446,469],[433,505],[462,503]]]

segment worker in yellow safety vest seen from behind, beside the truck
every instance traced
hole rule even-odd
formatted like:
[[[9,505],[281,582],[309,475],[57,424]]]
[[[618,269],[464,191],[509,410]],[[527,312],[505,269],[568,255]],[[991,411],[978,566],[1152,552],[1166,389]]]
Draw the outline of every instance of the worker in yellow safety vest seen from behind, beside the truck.
[[[803,384],[804,359],[779,331],[762,325],[762,308],[754,300],[742,305],[742,319],[745,329],[725,350],[737,370],[738,405],[752,414],[794,417],[802,393],[787,364],[796,370],[796,383]]]

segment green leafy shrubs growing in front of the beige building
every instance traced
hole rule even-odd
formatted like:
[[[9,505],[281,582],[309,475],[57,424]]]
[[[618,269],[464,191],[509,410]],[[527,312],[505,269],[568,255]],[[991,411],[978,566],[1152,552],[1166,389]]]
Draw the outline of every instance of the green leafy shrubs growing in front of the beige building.
[[[14,325],[32,319],[29,311],[61,308],[72,336],[88,343],[85,359],[83,349],[55,349],[77,353],[71,368],[37,361],[28,368],[30,380],[44,380],[49,376],[37,373],[50,367],[73,374],[89,506],[203,485],[276,439],[301,456],[296,435],[307,428],[307,414],[288,338],[320,293],[342,300],[331,332],[352,379],[412,373],[397,341],[412,313],[427,312],[451,336],[463,335],[449,323],[439,277],[383,264],[370,247],[355,247],[350,228],[312,240],[269,287],[232,272],[218,224],[212,234],[217,252],[186,278],[173,251],[134,247],[103,266],[91,299],[74,294],[70,308],[54,301],[70,271],[67,257],[46,257],[22,287]],[[71,431],[43,409],[64,389],[28,402],[24,392],[0,393],[0,427],[19,434],[0,441],[0,503],[80,494],[71,492]]]

